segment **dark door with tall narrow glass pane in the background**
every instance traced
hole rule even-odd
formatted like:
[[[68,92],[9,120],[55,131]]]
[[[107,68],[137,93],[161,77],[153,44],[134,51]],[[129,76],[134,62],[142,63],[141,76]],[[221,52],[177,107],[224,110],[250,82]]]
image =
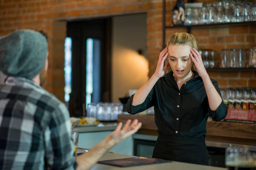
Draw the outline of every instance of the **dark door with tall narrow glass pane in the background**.
[[[71,115],[84,115],[87,103],[111,99],[110,33],[110,18],[67,23],[72,39]]]

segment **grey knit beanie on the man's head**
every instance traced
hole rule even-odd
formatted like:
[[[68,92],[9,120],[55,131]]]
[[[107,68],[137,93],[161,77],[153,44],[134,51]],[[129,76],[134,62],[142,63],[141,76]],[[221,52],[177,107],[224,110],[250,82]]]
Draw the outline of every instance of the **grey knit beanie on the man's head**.
[[[22,29],[0,39],[0,70],[11,76],[33,79],[45,65],[46,38],[39,32]]]

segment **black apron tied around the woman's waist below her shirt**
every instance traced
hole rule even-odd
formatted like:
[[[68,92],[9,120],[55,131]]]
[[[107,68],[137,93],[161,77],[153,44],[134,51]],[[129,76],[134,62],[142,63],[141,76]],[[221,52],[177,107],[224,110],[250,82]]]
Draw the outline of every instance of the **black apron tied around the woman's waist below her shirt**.
[[[209,154],[204,138],[170,137],[159,134],[153,158],[209,165]]]

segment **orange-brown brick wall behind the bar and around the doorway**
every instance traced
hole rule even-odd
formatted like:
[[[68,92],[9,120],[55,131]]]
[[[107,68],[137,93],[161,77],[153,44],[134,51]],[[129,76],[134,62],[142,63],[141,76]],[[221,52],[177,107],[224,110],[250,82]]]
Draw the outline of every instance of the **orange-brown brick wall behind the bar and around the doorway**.
[[[214,2],[215,0],[199,0]],[[176,0],[166,0],[166,25]],[[154,73],[162,47],[162,0],[0,0],[0,36],[16,29],[44,29],[49,34],[49,71],[46,89],[64,100],[64,40],[66,20],[129,13],[147,13],[147,48],[149,76]],[[168,28],[166,40],[186,28]],[[193,27],[199,48],[220,51],[222,48],[256,46],[254,25]],[[218,58],[217,58],[218,59]],[[209,72],[221,87],[256,86],[254,71]]]

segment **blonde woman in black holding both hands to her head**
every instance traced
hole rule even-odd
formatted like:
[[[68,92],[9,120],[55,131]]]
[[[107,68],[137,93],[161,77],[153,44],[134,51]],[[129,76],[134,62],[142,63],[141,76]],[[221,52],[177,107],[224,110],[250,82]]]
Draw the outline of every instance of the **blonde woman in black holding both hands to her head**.
[[[129,98],[127,111],[136,114],[151,106],[158,127],[153,157],[208,165],[204,141],[208,114],[219,121],[227,108],[218,83],[204,68],[193,35],[170,36],[155,73]]]

